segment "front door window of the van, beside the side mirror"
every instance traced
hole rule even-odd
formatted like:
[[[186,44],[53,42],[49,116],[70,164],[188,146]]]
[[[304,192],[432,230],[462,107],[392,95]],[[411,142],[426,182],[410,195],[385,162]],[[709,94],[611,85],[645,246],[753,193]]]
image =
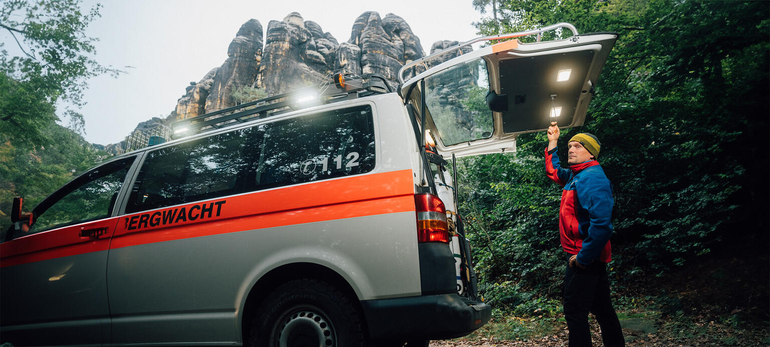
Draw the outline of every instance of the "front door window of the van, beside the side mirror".
[[[134,158],[94,168],[43,200],[33,211],[35,223],[24,235],[109,217]]]

